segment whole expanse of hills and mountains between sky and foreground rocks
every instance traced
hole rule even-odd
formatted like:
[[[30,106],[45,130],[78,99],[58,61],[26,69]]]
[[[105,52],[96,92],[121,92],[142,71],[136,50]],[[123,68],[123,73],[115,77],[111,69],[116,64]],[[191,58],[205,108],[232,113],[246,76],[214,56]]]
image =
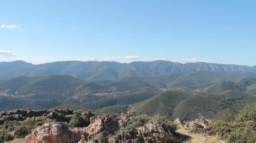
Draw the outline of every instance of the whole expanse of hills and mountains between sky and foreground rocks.
[[[0,111],[64,108],[213,118],[256,102],[254,67],[169,61],[0,63]]]

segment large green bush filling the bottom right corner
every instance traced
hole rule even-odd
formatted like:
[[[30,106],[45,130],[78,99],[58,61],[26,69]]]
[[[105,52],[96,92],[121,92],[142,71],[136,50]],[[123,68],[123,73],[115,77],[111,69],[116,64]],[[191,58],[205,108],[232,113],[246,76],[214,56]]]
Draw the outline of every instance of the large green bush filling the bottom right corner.
[[[232,115],[233,114],[233,115]],[[256,141],[256,107],[247,106],[238,114],[225,110],[208,127],[228,143],[254,143]]]

